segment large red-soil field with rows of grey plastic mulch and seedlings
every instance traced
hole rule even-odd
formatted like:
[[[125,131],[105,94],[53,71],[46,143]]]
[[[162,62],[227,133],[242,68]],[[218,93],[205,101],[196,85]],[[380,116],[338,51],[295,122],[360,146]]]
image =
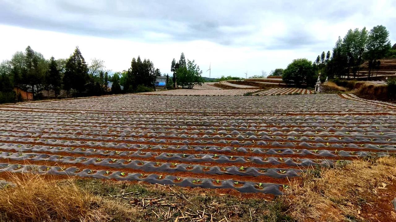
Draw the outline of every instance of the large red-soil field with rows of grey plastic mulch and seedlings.
[[[0,106],[0,173],[279,195],[308,166],[396,152],[396,110],[352,96],[120,96]]]

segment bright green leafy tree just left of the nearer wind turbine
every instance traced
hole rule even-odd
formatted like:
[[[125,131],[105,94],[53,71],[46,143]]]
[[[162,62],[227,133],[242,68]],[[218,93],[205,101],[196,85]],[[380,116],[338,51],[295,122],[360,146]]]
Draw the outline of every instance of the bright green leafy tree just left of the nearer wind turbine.
[[[184,54],[182,53],[184,58]],[[204,83],[204,79],[202,79],[201,74],[202,70],[200,70],[199,66],[194,64],[194,60],[187,60],[187,66],[180,66],[176,73],[176,81],[177,85],[182,88],[191,89],[194,85],[202,85]]]

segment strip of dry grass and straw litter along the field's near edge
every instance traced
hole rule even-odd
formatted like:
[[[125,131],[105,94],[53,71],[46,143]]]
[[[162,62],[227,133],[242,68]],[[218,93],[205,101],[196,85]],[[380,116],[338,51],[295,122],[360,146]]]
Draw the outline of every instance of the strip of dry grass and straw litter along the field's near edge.
[[[292,179],[286,195],[266,200],[200,188],[14,175],[8,181],[16,186],[0,190],[0,221],[392,221],[394,176],[396,158],[356,160],[312,169]],[[376,207],[380,213],[373,213]]]

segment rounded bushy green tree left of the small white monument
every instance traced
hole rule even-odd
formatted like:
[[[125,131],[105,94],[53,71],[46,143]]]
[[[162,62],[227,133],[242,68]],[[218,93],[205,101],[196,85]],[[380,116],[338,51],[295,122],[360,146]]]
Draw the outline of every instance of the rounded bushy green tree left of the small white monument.
[[[282,79],[287,84],[296,85],[296,87],[301,87],[303,84],[307,86],[314,85],[315,72],[312,67],[312,62],[306,58],[293,60],[284,70]]]

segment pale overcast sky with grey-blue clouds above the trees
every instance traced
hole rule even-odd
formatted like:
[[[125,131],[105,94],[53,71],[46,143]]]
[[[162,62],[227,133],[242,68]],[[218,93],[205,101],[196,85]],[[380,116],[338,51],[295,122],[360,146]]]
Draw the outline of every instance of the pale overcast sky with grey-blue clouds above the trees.
[[[385,25],[396,43],[395,0],[0,0],[0,61],[27,45],[126,70],[150,58],[170,73],[181,52],[211,77],[244,77],[314,60],[350,28]]]

